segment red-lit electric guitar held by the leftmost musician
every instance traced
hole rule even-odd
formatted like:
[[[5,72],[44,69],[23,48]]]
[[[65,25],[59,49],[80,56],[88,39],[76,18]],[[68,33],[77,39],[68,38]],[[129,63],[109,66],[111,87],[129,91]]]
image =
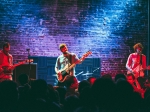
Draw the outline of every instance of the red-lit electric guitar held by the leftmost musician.
[[[24,60],[24,61],[21,61],[21,62],[18,62],[12,66],[0,66],[0,75],[1,74],[6,74],[6,75],[10,75],[12,74],[13,70],[19,66],[19,65],[22,65],[22,64],[25,64],[25,63],[29,63],[29,62],[33,62],[33,59],[28,59],[28,60]]]

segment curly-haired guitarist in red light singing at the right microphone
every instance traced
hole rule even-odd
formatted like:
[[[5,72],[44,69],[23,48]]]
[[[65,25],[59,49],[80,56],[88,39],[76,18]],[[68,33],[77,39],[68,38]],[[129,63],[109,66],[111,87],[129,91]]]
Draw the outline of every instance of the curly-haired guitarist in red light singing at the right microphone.
[[[146,56],[142,54],[143,46],[141,43],[135,44],[133,48],[135,52],[129,55],[126,63],[127,74],[132,73],[135,78],[142,79],[146,69]]]

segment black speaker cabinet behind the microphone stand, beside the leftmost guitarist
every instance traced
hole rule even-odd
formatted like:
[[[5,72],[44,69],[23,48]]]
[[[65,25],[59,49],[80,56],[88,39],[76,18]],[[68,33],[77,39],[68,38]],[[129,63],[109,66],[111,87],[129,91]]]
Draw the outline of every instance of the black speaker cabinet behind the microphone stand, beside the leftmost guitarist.
[[[17,66],[13,71],[13,80],[19,84],[18,77],[20,74],[27,74],[30,80],[37,79],[37,63],[23,64]]]

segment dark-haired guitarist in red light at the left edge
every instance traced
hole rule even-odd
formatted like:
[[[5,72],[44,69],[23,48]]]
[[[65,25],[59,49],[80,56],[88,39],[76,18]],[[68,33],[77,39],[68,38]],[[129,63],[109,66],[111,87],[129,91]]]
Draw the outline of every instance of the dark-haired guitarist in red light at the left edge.
[[[12,72],[4,73],[3,66],[12,66],[13,57],[9,54],[10,44],[8,42],[3,44],[3,49],[0,51],[0,82],[4,80],[12,80]],[[10,68],[12,71],[14,68]]]

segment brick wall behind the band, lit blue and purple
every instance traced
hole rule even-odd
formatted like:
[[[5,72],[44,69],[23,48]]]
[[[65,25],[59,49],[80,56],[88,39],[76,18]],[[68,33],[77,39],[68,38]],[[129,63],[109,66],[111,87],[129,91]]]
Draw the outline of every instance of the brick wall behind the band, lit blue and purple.
[[[146,54],[148,0],[1,0],[0,45],[8,41],[14,61],[57,57],[66,43],[81,56],[89,49],[102,60],[102,74],[125,73],[132,46]]]

